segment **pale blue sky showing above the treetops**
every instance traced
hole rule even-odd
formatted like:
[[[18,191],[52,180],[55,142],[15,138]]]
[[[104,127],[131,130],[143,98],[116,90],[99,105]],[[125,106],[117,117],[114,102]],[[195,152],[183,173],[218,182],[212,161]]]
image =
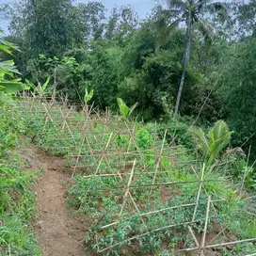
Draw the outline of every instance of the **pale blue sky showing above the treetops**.
[[[54,0],[53,0],[54,1]],[[18,2],[18,0],[0,0],[0,4],[12,4]],[[76,3],[87,3],[88,0],[74,0]],[[134,8],[140,19],[146,17],[147,13],[151,11],[156,0],[101,0],[105,8],[111,10],[115,6],[131,6]],[[8,20],[0,18],[0,28],[7,32]]]

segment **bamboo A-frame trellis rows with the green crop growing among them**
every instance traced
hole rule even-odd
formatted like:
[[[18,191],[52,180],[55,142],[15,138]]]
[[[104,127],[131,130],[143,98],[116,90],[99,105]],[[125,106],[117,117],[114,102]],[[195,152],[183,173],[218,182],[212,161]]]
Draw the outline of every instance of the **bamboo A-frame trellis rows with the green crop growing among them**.
[[[206,241],[209,221],[211,222],[217,216],[216,203],[221,203],[227,199],[217,197],[213,199],[213,196],[207,193],[205,184],[211,180],[207,178],[205,167],[203,166],[197,171],[193,168],[191,160],[186,163],[178,160],[179,154],[184,153],[184,151],[178,146],[168,143],[167,131],[164,131],[162,138],[159,138],[156,136],[155,126],[152,140],[147,147],[143,148],[143,145],[138,145],[144,141],[143,138],[140,141],[138,137],[139,131],[143,130],[143,125],[123,121],[120,117],[111,115],[108,110],[105,113],[100,113],[92,106],[69,105],[67,99],[63,98],[24,97],[21,111],[23,111],[24,116],[40,121],[38,136],[42,137],[42,147],[46,150],[65,152],[67,162],[73,169],[73,175],[76,171],[84,173],[84,179],[88,179],[92,184],[94,179],[102,179],[103,181],[104,179],[113,179],[114,183],[111,187],[100,189],[106,192],[111,191],[108,193],[111,194],[110,200],[118,200],[120,208],[109,223],[101,221],[102,219],[97,221],[99,233],[107,229],[115,229],[120,223],[133,216],[138,217],[141,223],[141,232],[136,234],[127,232],[127,237],[124,240],[121,242],[114,241],[104,248],[98,244],[99,253],[131,243],[152,233],[164,232],[178,227],[184,227],[187,230],[194,247],[177,248],[175,252],[177,255],[184,255],[184,251],[198,251],[200,255],[204,255],[204,251],[210,248],[256,241],[256,238],[249,238],[227,242],[226,227],[221,224],[216,234],[220,242],[214,243],[216,237],[210,243]],[[49,140],[50,143],[48,143]],[[172,172],[175,172],[176,166],[181,163],[186,167],[191,166],[188,171],[193,173],[191,175],[194,177],[193,180],[173,179]],[[165,207],[166,205],[163,203],[163,207],[157,205],[159,208],[156,208],[153,203],[154,191],[163,192],[166,188],[171,191],[171,187],[175,191],[175,186],[181,184],[198,185],[198,192],[194,201],[184,201],[177,205],[169,204],[168,207]],[[148,208],[145,207],[145,201],[135,199],[136,189],[150,191],[144,200],[152,202],[152,209],[148,205]],[[89,188],[87,192],[90,193]],[[205,216],[199,219],[197,213],[202,194],[207,196],[207,201],[204,204]],[[170,193],[165,200],[171,202],[172,198],[173,194]],[[169,223],[165,226],[152,228],[151,225],[148,225],[149,216],[163,215],[166,217],[170,211],[175,213],[176,210],[181,209],[190,209],[192,215],[184,217],[181,222]],[[102,216],[104,216],[104,209]],[[200,237],[193,229],[193,225],[199,221],[204,222]],[[98,234],[95,232],[96,244],[98,239]]]

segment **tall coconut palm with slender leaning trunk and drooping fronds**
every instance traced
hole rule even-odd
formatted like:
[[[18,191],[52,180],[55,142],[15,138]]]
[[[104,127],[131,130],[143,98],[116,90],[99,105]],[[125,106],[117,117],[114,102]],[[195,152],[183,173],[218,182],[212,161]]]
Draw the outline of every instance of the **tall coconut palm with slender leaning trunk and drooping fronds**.
[[[183,73],[180,82],[180,87],[175,104],[174,120],[177,117],[179,106],[181,102],[182,92],[184,88],[184,78],[187,65],[190,60],[190,49],[192,32],[194,29],[198,29],[202,36],[209,39],[210,24],[203,18],[205,12],[215,11],[219,14],[227,13],[227,4],[216,2],[213,0],[166,0],[167,9],[162,9],[161,19],[170,20],[168,28],[172,28],[174,25],[185,24],[185,52],[183,60]],[[160,11],[161,12],[161,11]]]

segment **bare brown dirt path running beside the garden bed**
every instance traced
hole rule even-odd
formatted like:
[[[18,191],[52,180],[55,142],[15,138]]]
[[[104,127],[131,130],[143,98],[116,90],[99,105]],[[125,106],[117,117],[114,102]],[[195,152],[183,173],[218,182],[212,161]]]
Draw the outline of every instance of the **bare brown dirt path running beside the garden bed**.
[[[83,229],[86,223],[72,216],[65,206],[65,187],[71,184],[71,171],[61,157],[48,155],[34,144],[20,150],[26,168],[43,169],[36,183],[37,216],[35,229],[40,247],[47,256],[84,256]],[[88,255],[88,253],[87,253]]]

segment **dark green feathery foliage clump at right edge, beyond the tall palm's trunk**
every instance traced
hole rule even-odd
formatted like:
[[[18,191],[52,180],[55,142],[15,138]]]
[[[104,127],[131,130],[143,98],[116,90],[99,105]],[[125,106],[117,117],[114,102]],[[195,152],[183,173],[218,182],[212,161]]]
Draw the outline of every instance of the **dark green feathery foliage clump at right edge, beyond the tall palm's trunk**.
[[[218,97],[223,104],[222,111],[234,131],[233,145],[242,145],[248,151],[255,152],[256,106],[254,104],[256,66],[256,38],[248,38],[232,47],[232,63],[223,59],[223,74],[219,81]],[[230,64],[226,64],[230,63]]]

